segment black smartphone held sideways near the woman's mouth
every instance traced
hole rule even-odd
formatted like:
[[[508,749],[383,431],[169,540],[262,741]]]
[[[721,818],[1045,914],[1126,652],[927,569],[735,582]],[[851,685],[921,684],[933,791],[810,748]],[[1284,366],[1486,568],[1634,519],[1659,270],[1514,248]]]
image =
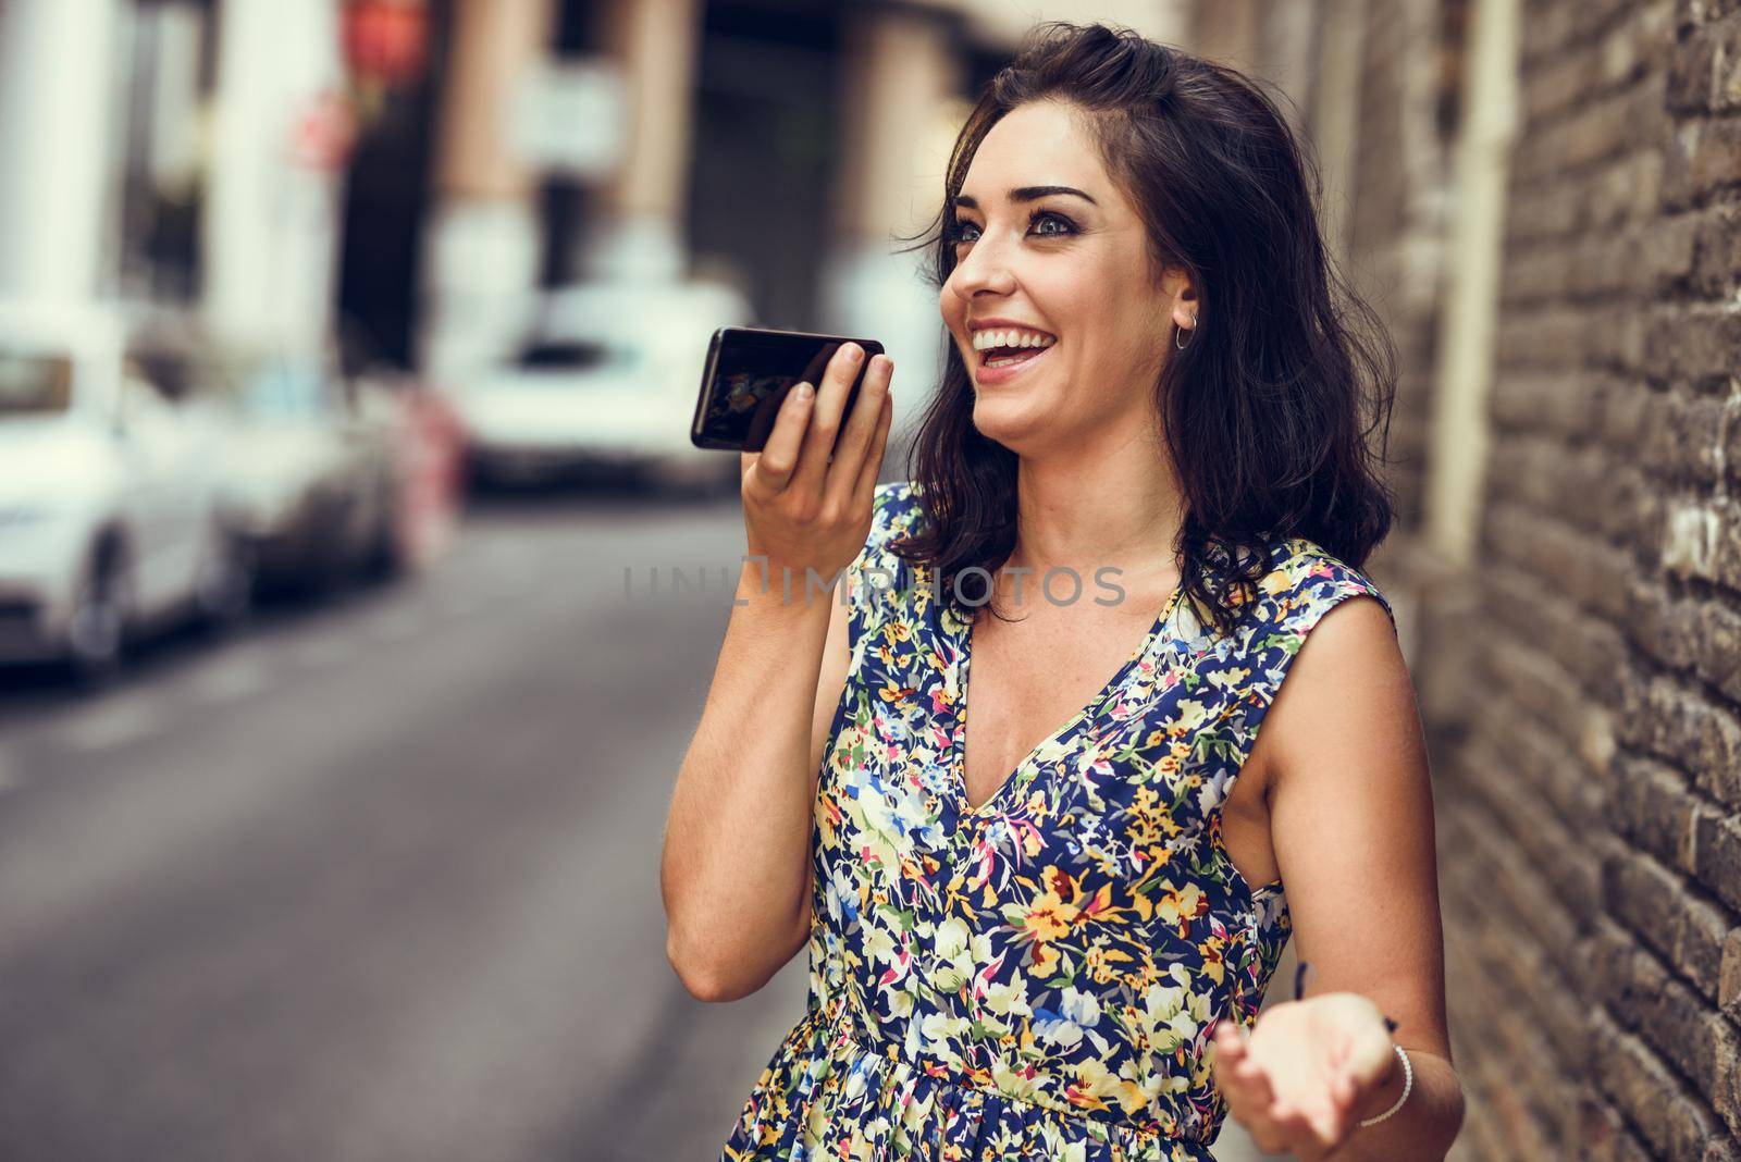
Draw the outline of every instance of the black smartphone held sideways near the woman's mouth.
[[[857,343],[865,350],[858,376],[846,393],[841,412],[841,431],[858,402],[858,388],[872,355],[883,355],[876,339],[848,336],[818,336],[803,331],[770,331],[766,327],[721,327],[707,344],[707,364],[702,369],[702,395],[695,402],[695,423],[689,442],[696,447],[729,452],[759,452],[768,444],[773,421],[780,414],[785,393],[799,383],[822,388],[822,372],[843,343]],[[839,437],[836,437],[839,438]]]

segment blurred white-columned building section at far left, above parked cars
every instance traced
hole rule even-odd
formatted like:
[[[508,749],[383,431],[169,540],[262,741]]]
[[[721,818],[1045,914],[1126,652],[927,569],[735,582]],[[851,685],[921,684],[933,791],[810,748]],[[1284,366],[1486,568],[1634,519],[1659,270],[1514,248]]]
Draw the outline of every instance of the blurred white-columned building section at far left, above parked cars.
[[[193,308],[237,337],[322,343],[360,92],[345,37],[366,7],[0,7],[0,294]]]

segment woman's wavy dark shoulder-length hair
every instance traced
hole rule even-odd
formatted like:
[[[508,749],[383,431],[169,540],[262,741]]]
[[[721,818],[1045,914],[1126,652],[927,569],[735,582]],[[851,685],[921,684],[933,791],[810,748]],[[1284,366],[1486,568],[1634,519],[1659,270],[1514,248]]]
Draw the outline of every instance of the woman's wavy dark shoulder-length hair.
[[[1283,538],[1361,567],[1393,520],[1382,452],[1367,435],[1382,419],[1388,438],[1396,355],[1334,270],[1316,162],[1257,82],[1126,28],[1036,24],[980,94],[951,153],[944,207],[902,238],[921,238],[905,250],[935,245],[940,292],[956,268],[954,197],[975,151],[998,120],[1039,99],[1081,111],[1142,216],[1153,270],[1182,268],[1198,292],[1191,341],[1168,346],[1154,384],[1184,489],[1173,544],[1184,595],[1231,631]],[[1168,334],[1154,341],[1170,344]],[[945,348],[942,388],[914,440],[924,522],[895,550],[935,567],[944,593],[980,604],[1015,550],[1017,457],[973,426],[968,369],[954,341]]]

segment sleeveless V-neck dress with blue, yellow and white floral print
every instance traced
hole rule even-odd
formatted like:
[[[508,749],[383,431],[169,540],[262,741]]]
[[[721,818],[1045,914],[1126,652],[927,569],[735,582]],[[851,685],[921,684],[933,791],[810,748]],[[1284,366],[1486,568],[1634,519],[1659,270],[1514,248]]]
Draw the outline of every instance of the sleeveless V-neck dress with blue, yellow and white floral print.
[[[1215,1025],[1255,1025],[1290,936],[1281,880],[1245,882],[1220,809],[1313,624],[1349,597],[1391,605],[1314,543],[1278,541],[1234,633],[1175,591],[973,809],[971,609],[890,550],[921,518],[918,484],[879,484],[844,579],[810,997],[721,1162],[1212,1160]],[[1093,586],[1079,600],[1109,600]]]

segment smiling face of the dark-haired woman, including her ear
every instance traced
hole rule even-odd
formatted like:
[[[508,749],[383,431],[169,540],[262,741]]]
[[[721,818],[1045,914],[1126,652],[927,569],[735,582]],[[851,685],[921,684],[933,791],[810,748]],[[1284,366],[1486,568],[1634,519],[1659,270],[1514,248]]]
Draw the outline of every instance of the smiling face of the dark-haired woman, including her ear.
[[[1034,193],[1048,186],[1079,193]],[[1153,419],[1172,327],[1194,325],[1196,299],[1182,273],[1156,282],[1142,219],[1074,106],[1034,101],[992,125],[956,197],[956,230],[938,306],[973,381],[975,428],[1039,456]],[[1052,344],[999,376],[973,346],[977,331],[1006,329],[987,320]]]

